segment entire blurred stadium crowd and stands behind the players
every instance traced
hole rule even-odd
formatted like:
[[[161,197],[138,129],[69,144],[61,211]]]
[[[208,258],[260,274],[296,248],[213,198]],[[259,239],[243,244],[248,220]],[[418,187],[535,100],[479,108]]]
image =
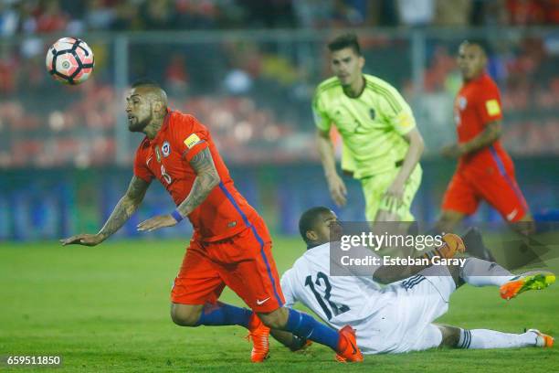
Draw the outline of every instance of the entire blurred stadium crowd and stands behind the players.
[[[455,55],[476,26],[496,27],[485,34],[490,74],[503,94],[506,147],[515,156],[559,154],[559,28],[550,26],[558,21],[559,0],[3,0],[0,166],[132,162],[135,143],[116,135],[125,126],[123,92],[115,88],[120,75],[129,83],[160,81],[172,108],[193,112],[212,129],[229,162],[315,162],[311,98],[330,75],[325,45],[343,27],[377,26],[385,28],[360,28],[365,72],[411,103],[427,157],[454,139]],[[532,25],[547,27],[522,32]],[[437,26],[463,32],[438,33]],[[290,37],[275,39],[281,32],[269,27],[289,29]],[[220,31],[251,28],[259,31],[250,37]],[[309,37],[312,28],[321,31]],[[180,33],[194,29],[206,30],[208,39]],[[133,37],[153,30],[179,33]],[[79,87],[55,83],[44,67],[49,44],[70,35],[95,53],[93,79]],[[125,38],[120,56],[117,35]],[[116,61],[122,57],[124,70]]]

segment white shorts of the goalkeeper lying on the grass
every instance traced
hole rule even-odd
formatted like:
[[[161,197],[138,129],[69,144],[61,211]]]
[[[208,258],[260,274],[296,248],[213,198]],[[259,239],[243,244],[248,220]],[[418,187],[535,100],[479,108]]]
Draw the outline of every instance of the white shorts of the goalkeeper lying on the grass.
[[[398,354],[440,346],[442,333],[433,322],[448,311],[448,299],[456,290],[448,268],[429,267],[389,288],[396,293],[395,302],[367,322],[367,328],[376,331],[374,339],[359,341],[358,335],[364,354]]]

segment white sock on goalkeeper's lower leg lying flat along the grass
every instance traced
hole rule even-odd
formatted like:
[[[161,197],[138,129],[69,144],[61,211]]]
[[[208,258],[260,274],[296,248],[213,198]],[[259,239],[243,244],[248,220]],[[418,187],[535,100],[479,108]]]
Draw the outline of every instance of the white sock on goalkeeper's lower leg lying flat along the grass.
[[[511,334],[488,329],[460,329],[459,348],[514,348],[536,346],[533,332]]]

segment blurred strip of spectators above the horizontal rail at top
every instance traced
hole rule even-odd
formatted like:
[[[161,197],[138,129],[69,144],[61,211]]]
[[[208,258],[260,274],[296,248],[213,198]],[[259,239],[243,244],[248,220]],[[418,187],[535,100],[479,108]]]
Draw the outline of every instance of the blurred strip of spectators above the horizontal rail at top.
[[[527,26],[557,0],[3,0],[0,33],[268,27]]]

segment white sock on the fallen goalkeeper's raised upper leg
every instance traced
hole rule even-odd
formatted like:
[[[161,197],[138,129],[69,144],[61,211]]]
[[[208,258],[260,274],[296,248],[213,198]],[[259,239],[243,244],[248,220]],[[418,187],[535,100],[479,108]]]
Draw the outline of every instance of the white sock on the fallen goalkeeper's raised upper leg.
[[[492,261],[467,258],[460,268],[460,277],[472,286],[501,286],[514,277],[514,274]]]

